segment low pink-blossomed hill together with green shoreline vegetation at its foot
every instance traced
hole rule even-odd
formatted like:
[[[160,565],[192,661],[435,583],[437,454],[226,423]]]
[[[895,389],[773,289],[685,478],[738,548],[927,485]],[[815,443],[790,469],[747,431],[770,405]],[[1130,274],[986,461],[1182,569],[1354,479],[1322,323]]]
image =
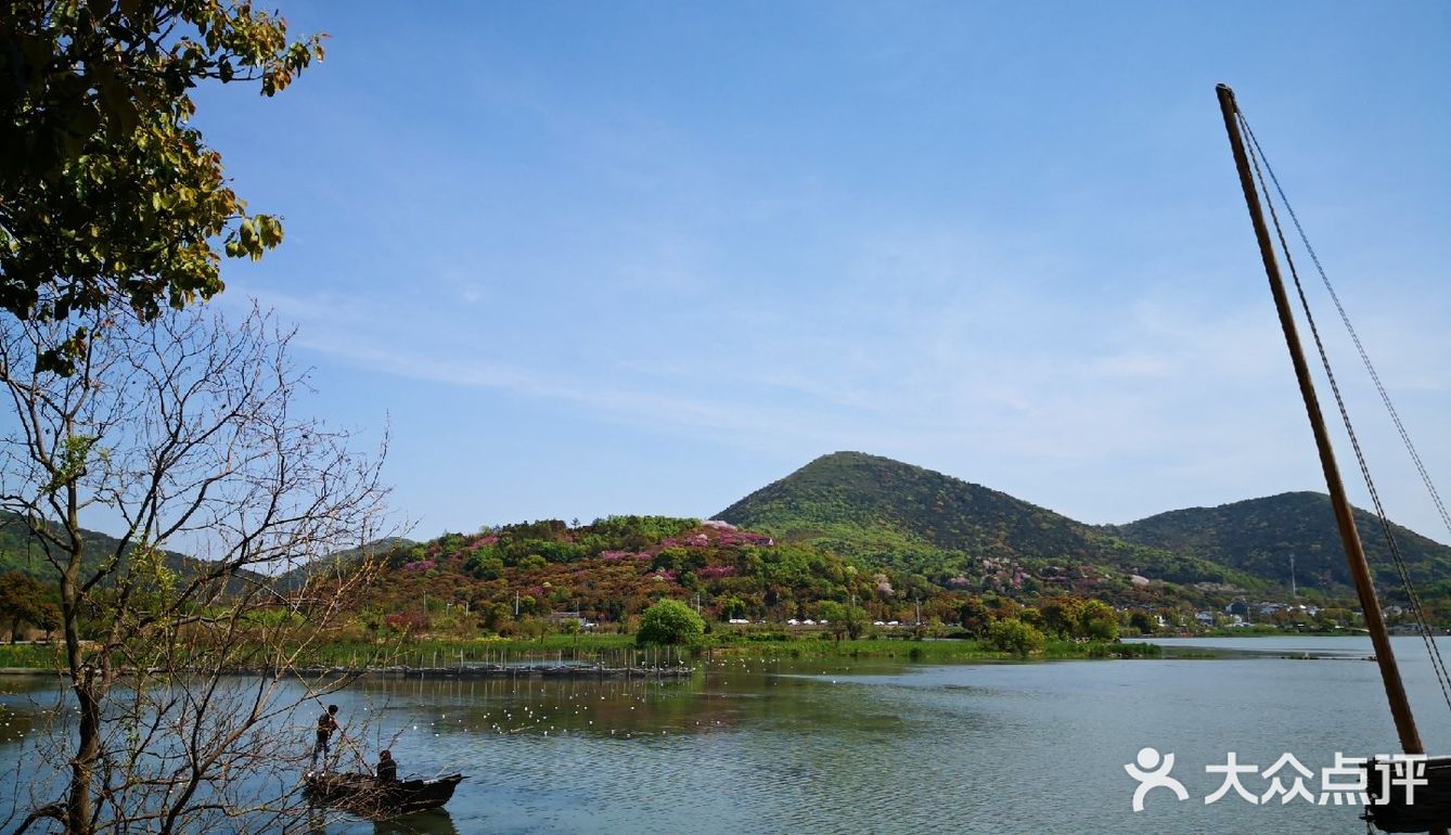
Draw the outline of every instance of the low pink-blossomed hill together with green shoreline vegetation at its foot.
[[[1177,597],[1184,590],[1171,590],[1155,604],[1142,594],[1087,595],[1066,581],[1042,581],[1036,592],[1027,592],[991,572],[953,588],[940,578],[874,569],[813,545],[673,517],[535,521],[428,543],[393,540],[271,578],[274,604],[248,613],[247,620],[257,627],[299,627],[286,601],[335,588],[340,566],[364,563],[373,574],[338,611],[329,638],[306,648],[308,664],[380,667],[392,655],[427,656],[435,645],[448,648],[447,659],[459,649],[467,655],[480,640],[496,651],[518,646],[522,653],[615,636],[628,643],[640,640],[641,616],[662,601],[699,614],[701,639],[683,640],[691,645],[749,648],[827,639],[856,643],[856,652],[863,652],[863,639],[950,638],[961,646],[971,642],[959,655],[974,658],[1111,653],[1117,651],[1088,648],[1113,646],[1120,636],[1207,633],[1229,623],[1219,608],[1206,620],[1201,603]],[[0,582],[0,590],[10,587],[30,588]],[[0,595],[0,616],[7,616],[4,600]],[[44,606],[25,606],[25,617],[44,620]],[[1280,626],[1226,632],[1318,626],[1304,611],[1277,614]],[[1351,620],[1347,608],[1326,607],[1318,614]],[[78,629],[83,639],[94,635],[86,617]],[[42,635],[41,627],[32,635]]]

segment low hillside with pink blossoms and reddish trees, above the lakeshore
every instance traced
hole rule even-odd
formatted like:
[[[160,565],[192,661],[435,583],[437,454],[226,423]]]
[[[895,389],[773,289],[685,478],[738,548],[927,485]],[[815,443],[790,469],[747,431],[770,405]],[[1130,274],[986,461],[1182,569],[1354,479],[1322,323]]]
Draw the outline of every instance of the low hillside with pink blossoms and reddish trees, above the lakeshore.
[[[1201,590],[1175,584],[1110,584],[1078,565],[1035,575],[988,561],[988,574],[934,582],[724,521],[650,516],[573,527],[543,520],[451,533],[395,547],[383,561],[385,571],[360,611],[360,622],[374,632],[464,623],[514,632],[562,613],[622,623],[662,597],[698,606],[708,619],[770,622],[836,620],[852,604],[876,620],[908,620],[920,604],[924,617],[950,622],[979,598],[1029,601],[1077,594],[1190,608],[1206,598]]]

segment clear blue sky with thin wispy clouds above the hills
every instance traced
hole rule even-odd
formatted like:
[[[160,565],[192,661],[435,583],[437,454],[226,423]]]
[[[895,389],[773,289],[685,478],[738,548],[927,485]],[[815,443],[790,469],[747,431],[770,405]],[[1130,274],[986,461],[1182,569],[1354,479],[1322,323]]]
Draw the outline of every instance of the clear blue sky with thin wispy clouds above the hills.
[[[1451,471],[1445,3],[281,12],[328,60],[199,94],[287,229],[221,304],[390,425],[415,537],[708,516],[842,449],[1091,523],[1323,489],[1219,81]],[[1351,395],[1392,516],[1448,539]]]

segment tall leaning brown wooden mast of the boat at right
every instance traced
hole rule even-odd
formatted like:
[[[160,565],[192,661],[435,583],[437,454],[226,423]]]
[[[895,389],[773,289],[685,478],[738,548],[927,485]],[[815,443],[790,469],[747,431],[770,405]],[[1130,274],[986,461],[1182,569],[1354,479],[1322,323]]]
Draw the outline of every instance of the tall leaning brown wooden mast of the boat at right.
[[[1284,280],[1280,277],[1280,263],[1274,254],[1270,229],[1265,227],[1264,209],[1259,206],[1259,190],[1255,187],[1254,174],[1249,170],[1249,154],[1245,152],[1244,137],[1239,134],[1239,109],[1235,105],[1235,91],[1228,84],[1220,84],[1216,90],[1219,107],[1225,113],[1229,145],[1235,151],[1235,167],[1239,168],[1239,184],[1245,190],[1245,203],[1249,206],[1249,221],[1254,224],[1255,238],[1259,241],[1259,257],[1264,258],[1270,292],[1274,295],[1275,312],[1280,314],[1280,327],[1284,330],[1284,341],[1290,349],[1290,362],[1294,363],[1294,376],[1300,382],[1300,395],[1304,398],[1304,411],[1310,417],[1310,428],[1315,430],[1315,446],[1320,452],[1320,468],[1325,471],[1325,486],[1331,491],[1331,504],[1335,508],[1335,523],[1341,529],[1345,559],[1349,562],[1351,577],[1355,578],[1355,591],[1360,594],[1361,610],[1365,613],[1365,627],[1376,646],[1376,661],[1380,665],[1380,678],[1386,685],[1386,698],[1390,701],[1390,714],[1396,720],[1396,733],[1400,735],[1400,748],[1406,754],[1425,754],[1421,733],[1416,732],[1416,720],[1410,714],[1406,687],[1400,681],[1400,669],[1396,667],[1396,655],[1390,648],[1390,635],[1386,632],[1386,620],[1380,611],[1380,600],[1376,597],[1370,566],[1365,563],[1365,549],[1361,546],[1360,531],[1355,530],[1351,502],[1345,498],[1345,485],[1341,482],[1341,471],[1335,463],[1331,436],[1325,430],[1320,401],[1315,396],[1310,367],[1304,362],[1300,334],[1290,311],[1290,298],[1286,295]]]

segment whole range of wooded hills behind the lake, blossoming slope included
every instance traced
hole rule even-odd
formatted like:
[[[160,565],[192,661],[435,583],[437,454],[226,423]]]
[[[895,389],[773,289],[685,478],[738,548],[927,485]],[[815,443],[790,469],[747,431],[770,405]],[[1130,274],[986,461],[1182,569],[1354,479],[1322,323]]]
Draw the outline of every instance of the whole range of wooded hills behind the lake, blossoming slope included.
[[[1287,597],[1291,553],[1302,594],[1351,595],[1320,494],[1093,527],[923,468],[834,453],[720,516],[628,516],[575,526],[541,520],[427,543],[379,542],[332,558],[383,563],[355,616],[366,630],[390,633],[435,626],[511,632],[562,613],[622,623],[662,597],[721,620],[773,622],[830,619],[853,603],[881,620],[914,617],[918,604],[953,620],[979,598],[1036,606],[1061,595],[1193,611],[1239,597]],[[1367,514],[1358,518],[1373,559],[1384,566],[1378,524]],[[1451,577],[1451,549],[1406,529],[1396,534],[1428,600],[1445,598],[1451,588],[1436,578]],[[116,545],[89,536],[94,559]],[[190,562],[178,553],[167,559],[176,569]],[[45,577],[16,518],[0,520],[0,568]],[[305,575],[270,582],[286,592],[300,588]],[[1381,577],[1390,578],[1384,568]]]

